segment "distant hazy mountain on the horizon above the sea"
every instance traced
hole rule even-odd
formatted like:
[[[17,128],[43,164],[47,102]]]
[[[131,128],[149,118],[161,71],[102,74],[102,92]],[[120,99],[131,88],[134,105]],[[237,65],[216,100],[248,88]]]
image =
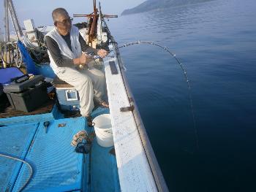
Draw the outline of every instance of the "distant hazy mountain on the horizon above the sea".
[[[148,12],[154,9],[163,9],[167,7],[174,7],[178,5],[184,4],[195,4],[205,1],[212,1],[212,0],[148,0],[144,1],[142,4],[139,4],[137,7],[132,9],[125,9],[121,15],[129,15],[138,12]]]

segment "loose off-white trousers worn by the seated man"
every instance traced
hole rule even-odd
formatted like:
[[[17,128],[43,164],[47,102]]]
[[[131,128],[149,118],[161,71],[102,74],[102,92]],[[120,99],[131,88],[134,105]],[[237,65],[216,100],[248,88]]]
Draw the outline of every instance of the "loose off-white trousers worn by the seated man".
[[[98,69],[64,67],[56,75],[74,86],[80,97],[80,114],[87,117],[94,109],[94,99],[102,100],[106,90],[105,75]]]

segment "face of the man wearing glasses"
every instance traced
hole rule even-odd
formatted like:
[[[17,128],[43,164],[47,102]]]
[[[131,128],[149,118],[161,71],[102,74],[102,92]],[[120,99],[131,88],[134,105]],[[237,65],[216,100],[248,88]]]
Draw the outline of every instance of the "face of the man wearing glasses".
[[[67,35],[69,34],[72,26],[72,18],[70,18],[69,15],[59,15],[54,24],[58,28],[61,35]]]

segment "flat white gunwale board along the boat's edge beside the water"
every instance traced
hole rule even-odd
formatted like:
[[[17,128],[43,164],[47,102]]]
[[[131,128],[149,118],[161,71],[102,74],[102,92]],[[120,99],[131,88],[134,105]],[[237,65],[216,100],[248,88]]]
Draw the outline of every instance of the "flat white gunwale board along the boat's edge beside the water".
[[[129,107],[129,100],[118,65],[118,74],[110,71],[109,61],[118,61],[110,57],[104,61],[121,191],[157,191],[132,112],[120,111]]]

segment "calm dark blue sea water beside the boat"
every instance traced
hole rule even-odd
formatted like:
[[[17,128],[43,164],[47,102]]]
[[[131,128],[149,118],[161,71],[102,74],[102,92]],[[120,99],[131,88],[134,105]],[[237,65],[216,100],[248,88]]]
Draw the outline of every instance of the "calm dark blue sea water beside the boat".
[[[256,191],[256,2],[217,0],[109,22],[170,191]]]

